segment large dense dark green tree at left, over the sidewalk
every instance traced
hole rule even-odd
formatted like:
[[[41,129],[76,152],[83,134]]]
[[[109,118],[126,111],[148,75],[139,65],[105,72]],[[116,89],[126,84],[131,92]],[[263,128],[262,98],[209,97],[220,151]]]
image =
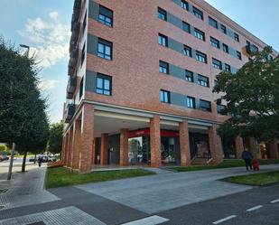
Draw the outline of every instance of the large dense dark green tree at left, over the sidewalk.
[[[34,60],[0,38],[0,142],[14,142],[24,154],[22,171],[27,152],[43,149],[49,130]]]

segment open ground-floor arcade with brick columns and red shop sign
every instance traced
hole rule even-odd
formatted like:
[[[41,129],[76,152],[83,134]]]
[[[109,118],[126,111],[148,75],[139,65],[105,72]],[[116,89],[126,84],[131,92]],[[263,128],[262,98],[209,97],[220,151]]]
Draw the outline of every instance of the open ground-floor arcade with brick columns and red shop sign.
[[[64,133],[62,161],[81,173],[108,165],[218,164],[224,152],[217,127],[202,119],[83,103]],[[240,158],[242,138],[234,145]]]

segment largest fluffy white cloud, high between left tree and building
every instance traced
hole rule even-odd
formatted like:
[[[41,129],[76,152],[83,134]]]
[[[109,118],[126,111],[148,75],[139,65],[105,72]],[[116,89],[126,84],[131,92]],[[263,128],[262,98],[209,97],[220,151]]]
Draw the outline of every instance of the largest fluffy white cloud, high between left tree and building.
[[[58,15],[53,11],[49,20],[42,20],[41,17],[27,19],[24,29],[18,31],[32,42],[30,53],[35,53],[42,68],[49,68],[69,57],[70,27],[69,24],[59,23]]]

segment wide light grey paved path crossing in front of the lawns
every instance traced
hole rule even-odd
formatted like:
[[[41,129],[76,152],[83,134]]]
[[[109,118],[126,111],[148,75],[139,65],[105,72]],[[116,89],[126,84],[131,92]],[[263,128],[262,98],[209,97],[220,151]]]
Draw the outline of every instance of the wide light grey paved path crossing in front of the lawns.
[[[272,170],[279,170],[279,164],[261,166],[260,173]],[[230,175],[249,173],[255,172],[246,172],[245,168],[237,167],[187,173],[161,173],[76,187],[138,211],[156,213],[249,190],[251,186],[218,181]]]

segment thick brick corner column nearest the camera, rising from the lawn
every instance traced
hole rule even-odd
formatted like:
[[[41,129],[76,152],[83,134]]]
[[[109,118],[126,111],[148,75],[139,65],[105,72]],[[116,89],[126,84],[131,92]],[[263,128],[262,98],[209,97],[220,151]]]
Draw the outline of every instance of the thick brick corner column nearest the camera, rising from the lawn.
[[[82,107],[81,117],[81,145],[79,152],[79,172],[90,173],[94,162],[92,162],[92,155],[94,140],[94,106],[91,104],[84,104]]]

